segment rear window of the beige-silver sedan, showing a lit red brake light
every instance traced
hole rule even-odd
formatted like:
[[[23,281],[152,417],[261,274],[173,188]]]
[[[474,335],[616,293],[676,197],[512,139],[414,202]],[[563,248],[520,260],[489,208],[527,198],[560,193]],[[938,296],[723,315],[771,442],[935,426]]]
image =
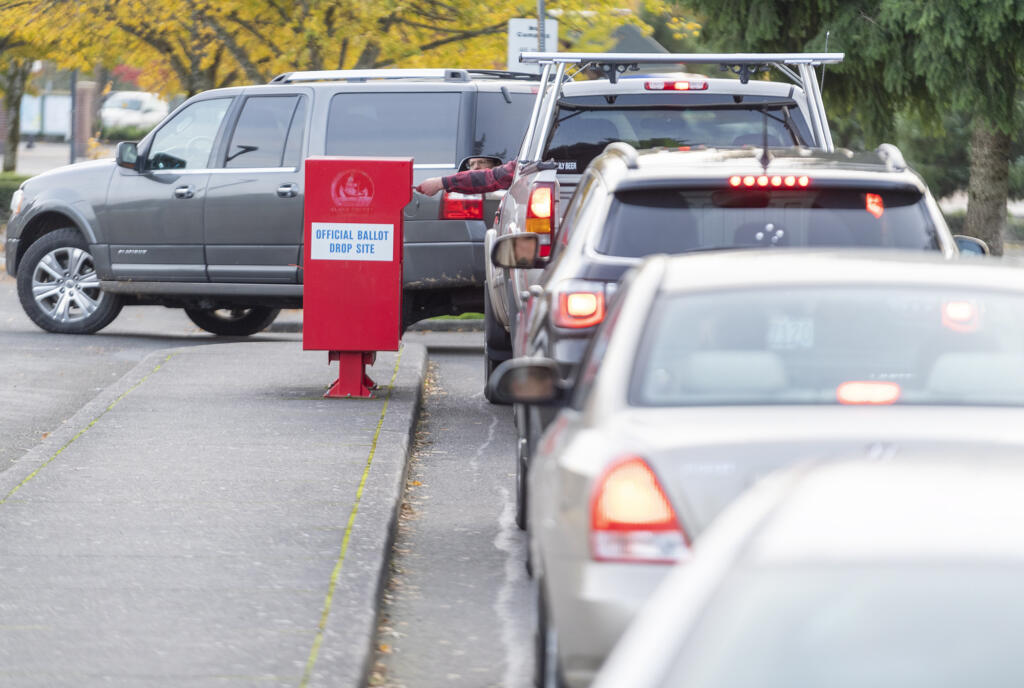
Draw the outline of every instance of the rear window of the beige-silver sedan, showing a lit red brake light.
[[[664,296],[630,401],[1024,405],[1024,299],[967,289]]]

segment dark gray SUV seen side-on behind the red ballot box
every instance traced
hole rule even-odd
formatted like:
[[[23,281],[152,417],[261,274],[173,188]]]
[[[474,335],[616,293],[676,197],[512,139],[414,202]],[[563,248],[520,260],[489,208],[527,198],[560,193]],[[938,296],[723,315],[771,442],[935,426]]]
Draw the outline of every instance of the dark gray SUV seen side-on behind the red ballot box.
[[[186,100],[117,160],[26,181],[7,271],[42,329],[93,333],[126,304],[250,335],[302,303],[303,160],[412,156],[414,183],[516,155],[537,77],[474,70],[297,72]],[[499,196],[414,193],[403,324],[483,308],[484,218]]]

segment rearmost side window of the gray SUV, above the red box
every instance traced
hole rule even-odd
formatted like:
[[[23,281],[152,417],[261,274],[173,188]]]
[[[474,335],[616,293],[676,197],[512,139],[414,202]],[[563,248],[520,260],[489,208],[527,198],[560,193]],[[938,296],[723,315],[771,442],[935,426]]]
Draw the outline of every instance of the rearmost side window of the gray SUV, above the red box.
[[[328,112],[329,156],[412,156],[455,167],[459,93],[339,93]]]

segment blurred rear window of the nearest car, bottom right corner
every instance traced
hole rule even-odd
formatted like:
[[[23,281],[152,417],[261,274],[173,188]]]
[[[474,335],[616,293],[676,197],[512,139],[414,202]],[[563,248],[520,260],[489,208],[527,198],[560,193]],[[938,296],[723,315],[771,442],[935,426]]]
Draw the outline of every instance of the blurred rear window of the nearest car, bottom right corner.
[[[733,573],[662,685],[1024,685],[1020,576],[995,562]]]

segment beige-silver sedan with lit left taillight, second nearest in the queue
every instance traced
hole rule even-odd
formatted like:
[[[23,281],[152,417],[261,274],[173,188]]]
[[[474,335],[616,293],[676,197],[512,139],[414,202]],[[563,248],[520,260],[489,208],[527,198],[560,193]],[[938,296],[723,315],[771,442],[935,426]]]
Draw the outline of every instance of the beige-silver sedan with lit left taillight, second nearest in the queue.
[[[527,507],[548,685],[587,685],[669,564],[774,469],[1024,447],[1020,267],[807,253],[649,259],[571,389],[554,361],[503,363],[496,394],[564,404]]]

